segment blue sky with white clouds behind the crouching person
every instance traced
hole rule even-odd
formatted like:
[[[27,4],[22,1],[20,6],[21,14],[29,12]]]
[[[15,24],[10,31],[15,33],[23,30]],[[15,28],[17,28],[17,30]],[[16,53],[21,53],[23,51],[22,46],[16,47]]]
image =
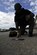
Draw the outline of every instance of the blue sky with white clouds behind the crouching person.
[[[23,8],[37,14],[37,0],[0,0],[0,28],[15,27],[15,3],[20,3]]]

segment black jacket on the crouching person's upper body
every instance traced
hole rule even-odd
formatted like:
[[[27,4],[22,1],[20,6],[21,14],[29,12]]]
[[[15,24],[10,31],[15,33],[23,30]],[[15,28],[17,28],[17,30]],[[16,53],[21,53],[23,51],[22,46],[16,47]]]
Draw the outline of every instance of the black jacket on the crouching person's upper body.
[[[21,8],[19,11],[15,12],[15,19],[14,19],[14,21],[15,22],[19,22],[19,23],[25,22],[27,15],[31,16],[30,20],[34,17],[34,14],[31,11],[29,11],[27,9],[24,9],[24,8]]]

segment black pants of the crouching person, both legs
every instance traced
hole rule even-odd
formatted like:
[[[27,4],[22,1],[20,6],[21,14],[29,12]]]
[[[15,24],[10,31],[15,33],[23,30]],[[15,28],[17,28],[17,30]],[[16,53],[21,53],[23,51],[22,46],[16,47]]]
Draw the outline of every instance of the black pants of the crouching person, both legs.
[[[32,35],[34,28],[34,19],[22,23],[16,22],[16,29],[18,30],[20,35],[24,34],[27,25],[29,25],[29,35]]]

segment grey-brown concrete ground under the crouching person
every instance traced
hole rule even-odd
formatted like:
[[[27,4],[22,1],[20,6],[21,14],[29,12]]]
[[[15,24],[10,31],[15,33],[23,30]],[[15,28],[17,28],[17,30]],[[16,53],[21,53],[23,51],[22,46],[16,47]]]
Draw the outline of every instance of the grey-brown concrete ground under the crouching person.
[[[0,32],[0,55],[37,55],[37,29],[34,36],[23,35],[24,40],[9,37],[9,32]]]

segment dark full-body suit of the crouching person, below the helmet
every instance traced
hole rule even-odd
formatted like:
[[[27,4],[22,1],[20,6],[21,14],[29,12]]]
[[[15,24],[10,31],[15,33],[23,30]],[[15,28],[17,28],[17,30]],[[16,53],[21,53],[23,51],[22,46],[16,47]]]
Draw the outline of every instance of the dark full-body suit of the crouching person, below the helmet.
[[[15,12],[15,23],[16,27],[18,29],[18,26],[20,26],[20,33],[23,34],[25,31],[25,27],[29,25],[29,35],[32,35],[33,33],[33,27],[34,27],[34,14],[24,8],[21,8],[20,10]]]

